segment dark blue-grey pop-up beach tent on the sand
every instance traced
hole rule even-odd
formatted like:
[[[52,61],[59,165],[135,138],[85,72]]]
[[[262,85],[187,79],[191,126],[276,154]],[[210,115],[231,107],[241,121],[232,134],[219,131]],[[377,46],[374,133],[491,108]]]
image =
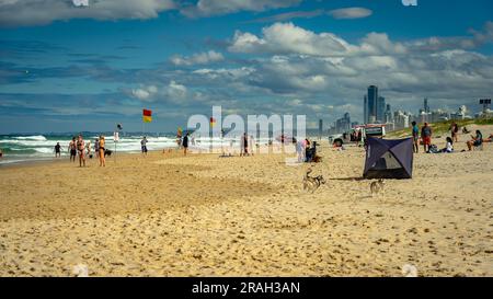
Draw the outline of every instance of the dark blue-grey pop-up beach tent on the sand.
[[[365,179],[412,179],[413,140],[368,138]]]

